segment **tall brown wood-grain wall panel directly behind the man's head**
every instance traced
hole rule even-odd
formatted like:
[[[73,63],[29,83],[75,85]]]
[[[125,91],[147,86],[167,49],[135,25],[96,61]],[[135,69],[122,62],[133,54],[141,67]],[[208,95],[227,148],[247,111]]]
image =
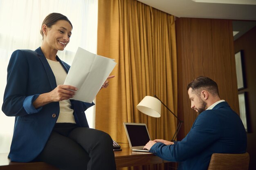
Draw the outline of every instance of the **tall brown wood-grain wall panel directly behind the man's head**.
[[[186,86],[203,75],[215,80],[220,98],[225,99],[239,114],[236,65],[232,21],[218,19],[178,18],[176,25],[178,62],[178,114],[184,120],[179,138],[190,130],[197,113]]]

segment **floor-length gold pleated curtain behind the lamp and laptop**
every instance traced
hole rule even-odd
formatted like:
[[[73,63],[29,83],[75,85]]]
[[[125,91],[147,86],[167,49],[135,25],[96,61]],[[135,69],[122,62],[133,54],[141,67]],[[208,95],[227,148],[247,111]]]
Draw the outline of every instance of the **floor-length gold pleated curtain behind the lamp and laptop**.
[[[146,123],[152,139],[171,140],[177,120],[162,106],[160,118],[140,113],[146,95],[157,95],[177,114],[174,16],[137,0],[99,0],[97,53],[115,59],[110,85],[96,98],[96,129],[128,143],[123,122]]]

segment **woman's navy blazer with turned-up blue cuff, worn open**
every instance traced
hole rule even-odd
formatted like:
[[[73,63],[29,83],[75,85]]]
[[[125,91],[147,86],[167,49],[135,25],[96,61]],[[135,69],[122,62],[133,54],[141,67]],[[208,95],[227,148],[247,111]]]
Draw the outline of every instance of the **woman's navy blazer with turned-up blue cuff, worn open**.
[[[66,72],[70,66],[56,57]],[[56,88],[56,79],[41,48],[36,51],[16,50],[7,68],[7,85],[2,111],[15,116],[11,161],[28,162],[43,150],[60,112],[59,102],[40,108],[32,103],[42,93]],[[74,118],[79,127],[89,127],[84,111],[94,103],[70,100]],[[52,116],[56,114],[56,117]]]

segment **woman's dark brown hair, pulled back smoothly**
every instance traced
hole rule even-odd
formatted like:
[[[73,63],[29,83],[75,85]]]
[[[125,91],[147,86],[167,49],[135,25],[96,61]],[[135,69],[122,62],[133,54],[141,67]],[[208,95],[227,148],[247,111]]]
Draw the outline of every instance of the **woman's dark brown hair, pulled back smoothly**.
[[[41,25],[41,30],[40,30],[40,33],[42,35],[42,37],[44,37],[44,34],[43,34],[43,30],[42,30],[42,26],[43,24],[47,25],[49,28],[52,27],[52,25],[54,25],[56,22],[58,22],[59,20],[65,20],[67,22],[70,23],[72,29],[73,29],[73,26],[70,22],[69,19],[67,19],[67,17],[65,15],[62,15],[61,13],[50,13],[49,15],[47,15],[45,17],[45,19],[43,20],[43,23]]]

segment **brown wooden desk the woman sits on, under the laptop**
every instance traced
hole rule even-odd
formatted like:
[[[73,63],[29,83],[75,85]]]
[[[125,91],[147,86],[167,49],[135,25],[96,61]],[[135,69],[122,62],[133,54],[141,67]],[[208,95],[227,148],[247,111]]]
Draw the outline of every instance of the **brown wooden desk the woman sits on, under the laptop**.
[[[134,152],[127,144],[121,144],[121,148],[121,151],[114,152],[117,168],[167,162],[150,152]],[[8,153],[0,153],[0,170],[58,170],[44,162],[11,162],[7,156]]]

